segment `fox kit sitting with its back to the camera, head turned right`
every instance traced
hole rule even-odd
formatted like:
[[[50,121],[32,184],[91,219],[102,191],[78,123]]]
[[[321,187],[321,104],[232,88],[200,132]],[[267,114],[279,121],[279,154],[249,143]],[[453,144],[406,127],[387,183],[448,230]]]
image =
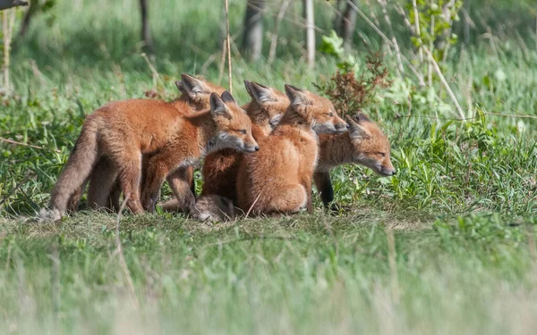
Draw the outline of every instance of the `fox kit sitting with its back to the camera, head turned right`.
[[[286,85],[291,105],[277,128],[260,140],[258,153],[243,157],[237,180],[238,205],[253,214],[312,213],[311,177],[318,156],[316,133],[347,130],[328,99]]]

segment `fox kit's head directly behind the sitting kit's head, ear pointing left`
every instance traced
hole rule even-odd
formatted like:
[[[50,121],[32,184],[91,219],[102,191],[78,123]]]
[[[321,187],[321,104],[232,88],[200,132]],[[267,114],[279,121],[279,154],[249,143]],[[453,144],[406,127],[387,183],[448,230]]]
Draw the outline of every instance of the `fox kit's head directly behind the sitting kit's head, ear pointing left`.
[[[251,121],[261,126],[267,133],[274,130],[286,113],[289,98],[276,88],[268,88],[253,81],[244,80],[244,86],[251,96],[247,112]]]

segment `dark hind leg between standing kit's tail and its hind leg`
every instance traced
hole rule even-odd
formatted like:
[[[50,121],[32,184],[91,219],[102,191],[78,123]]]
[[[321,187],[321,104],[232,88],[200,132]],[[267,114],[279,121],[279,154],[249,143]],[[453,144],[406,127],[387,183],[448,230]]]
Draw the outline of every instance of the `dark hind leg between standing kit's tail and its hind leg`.
[[[117,178],[117,169],[107,157],[101,157],[93,168],[88,188],[88,205],[90,208],[111,209],[108,201],[110,190]]]

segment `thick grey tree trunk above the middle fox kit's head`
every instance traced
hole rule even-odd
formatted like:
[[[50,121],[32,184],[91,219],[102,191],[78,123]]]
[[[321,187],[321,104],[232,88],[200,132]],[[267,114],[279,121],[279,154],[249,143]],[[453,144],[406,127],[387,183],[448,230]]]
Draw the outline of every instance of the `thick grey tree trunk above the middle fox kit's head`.
[[[263,46],[263,9],[265,0],[247,0],[244,16],[243,54],[257,61]]]

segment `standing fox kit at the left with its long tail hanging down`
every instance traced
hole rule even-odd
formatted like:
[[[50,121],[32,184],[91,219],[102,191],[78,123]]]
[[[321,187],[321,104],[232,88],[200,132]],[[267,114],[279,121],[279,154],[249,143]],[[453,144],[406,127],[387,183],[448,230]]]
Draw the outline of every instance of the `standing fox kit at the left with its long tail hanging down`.
[[[160,185],[168,175],[184,171],[210,151],[223,147],[259,150],[251,136],[250,118],[233,96],[226,91],[222,98],[212,93],[209,103],[209,111],[188,116],[168,103],[136,99],[110,103],[90,114],[52,191],[52,217],[64,214],[69,198],[103,155],[117,169],[126,204],[132,213],[140,214],[144,207],[154,208]],[[140,195],[142,155],[148,155],[148,174]],[[177,184],[183,188],[176,188]],[[172,185],[175,197],[186,197],[193,205],[188,180],[179,178],[177,184]],[[189,192],[182,193],[184,188]]]

